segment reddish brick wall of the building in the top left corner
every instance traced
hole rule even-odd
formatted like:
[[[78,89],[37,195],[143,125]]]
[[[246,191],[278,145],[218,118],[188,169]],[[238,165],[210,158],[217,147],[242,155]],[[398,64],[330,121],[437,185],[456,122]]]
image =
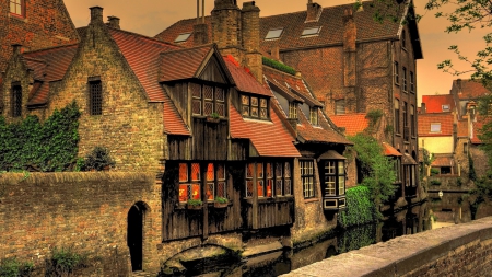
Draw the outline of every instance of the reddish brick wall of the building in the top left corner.
[[[9,0],[0,0],[0,72],[12,55],[11,45],[28,50],[75,43],[75,26],[62,0],[24,0],[24,16],[10,13]]]

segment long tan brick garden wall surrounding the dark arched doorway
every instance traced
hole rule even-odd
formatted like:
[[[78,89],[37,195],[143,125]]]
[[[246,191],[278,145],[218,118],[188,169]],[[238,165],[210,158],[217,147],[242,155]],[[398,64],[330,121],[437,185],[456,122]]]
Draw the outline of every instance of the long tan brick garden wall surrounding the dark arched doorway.
[[[128,276],[130,208],[145,208],[143,269],[159,270],[161,183],[140,173],[3,173],[0,175],[0,257],[31,261],[44,276],[55,247],[89,254],[79,276]]]

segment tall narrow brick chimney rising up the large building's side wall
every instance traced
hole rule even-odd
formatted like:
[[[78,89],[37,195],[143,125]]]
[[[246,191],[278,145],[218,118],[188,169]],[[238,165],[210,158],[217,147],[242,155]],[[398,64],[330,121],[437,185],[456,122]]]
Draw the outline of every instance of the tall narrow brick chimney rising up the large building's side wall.
[[[353,19],[352,8],[347,8],[343,12],[343,81],[344,86],[355,86],[356,84],[356,45],[358,30]]]

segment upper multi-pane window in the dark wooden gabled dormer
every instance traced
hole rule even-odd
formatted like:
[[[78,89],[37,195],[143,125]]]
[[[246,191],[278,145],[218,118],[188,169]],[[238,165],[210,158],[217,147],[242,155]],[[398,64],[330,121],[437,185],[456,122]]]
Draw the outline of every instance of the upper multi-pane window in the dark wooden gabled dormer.
[[[191,83],[192,114],[225,116],[225,90],[219,86]]]

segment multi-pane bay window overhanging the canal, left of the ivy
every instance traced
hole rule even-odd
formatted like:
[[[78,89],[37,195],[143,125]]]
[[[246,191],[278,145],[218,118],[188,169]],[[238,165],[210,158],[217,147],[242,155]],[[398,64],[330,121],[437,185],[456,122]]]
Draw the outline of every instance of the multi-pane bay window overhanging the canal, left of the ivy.
[[[345,194],[345,164],[342,160],[325,160],[323,164],[323,181],[325,196]]]

